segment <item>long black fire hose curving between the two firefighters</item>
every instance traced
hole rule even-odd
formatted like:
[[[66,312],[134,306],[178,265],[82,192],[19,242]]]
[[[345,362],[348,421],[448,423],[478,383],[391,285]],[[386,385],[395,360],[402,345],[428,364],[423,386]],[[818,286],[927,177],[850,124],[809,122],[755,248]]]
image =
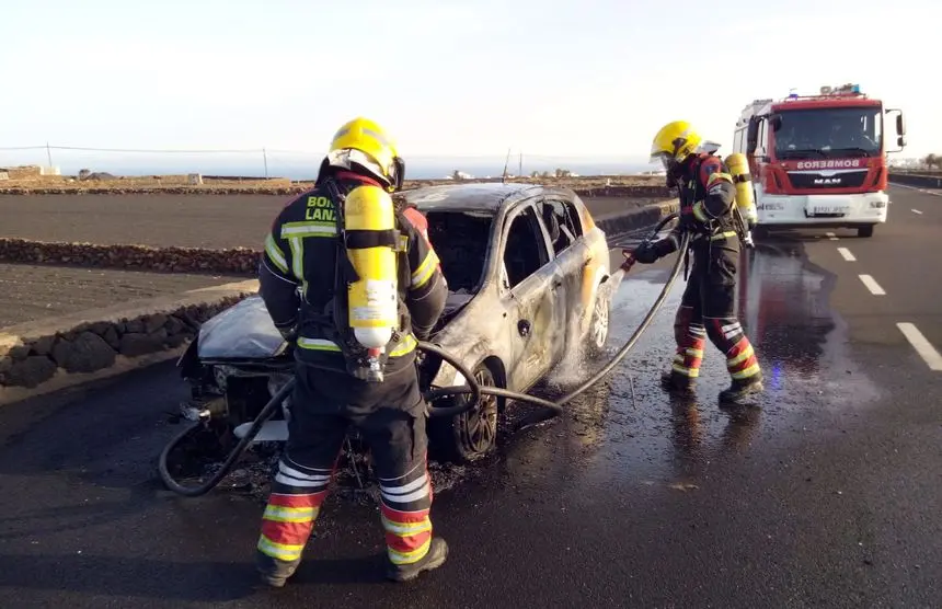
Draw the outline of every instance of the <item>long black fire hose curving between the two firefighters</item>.
[[[658,232],[673,219],[677,218],[677,214],[671,214],[660,220],[657,226],[652,231],[652,234],[645,239],[645,241],[651,241],[654,237],[657,235]],[[647,326],[651,325],[651,322],[654,320],[654,315],[657,314],[660,307],[664,304],[667,295],[670,291],[670,288],[674,286],[674,283],[677,280],[677,277],[680,273],[680,267],[683,262],[683,252],[687,251],[687,246],[690,241],[690,235],[688,232],[682,234],[682,240],[680,246],[677,249],[677,260],[674,263],[674,266],[670,269],[670,275],[667,278],[667,281],[664,284],[664,288],[662,288],[660,294],[657,296],[657,299],[652,304],[651,309],[647,311],[647,314],[639,324],[637,329],[635,329],[634,333],[631,335],[631,338],[616,353],[616,355],[611,358],[611,360],[601,367],[595,375],[593,375],[588,380],[583,382],[573,391],[563,395],[556,401],[544,400],[542,398],[538,398],[536,395],[530,395],[528,393],[518,393],[516,391],[509,391],[507,389],[502,389],[498,387],[481,387],[481,384],[474,379],[474,376],[468,370],[468,368],[458,361],[453,356],[448,354],[445,349],[440,348],[437,345],[427,342],[420,342],[417,348],[426,354],[433,354],[440,357],[444,361],[450,364],[461,376],[464,377],[467,384],[461,386],[452,386],[452,387],[441,387],[436,389],[429,389],[424,393],[425,401],[428,403],[427,407],[427,416],[429,417],[445,417],[445,416],[457,416],[459,414],[463,414],[472,409],[478,407],[481,402],[481,398],[483,395],[494,395],[497,398],[506,398],[509,400],[515,400],[518,402],[526,402],[529,404],[533,404],[537,406],[542,406],[542,411],[538,411],[533,415],[525,418],[517,428],[525,427],[527,425],[532,425],[535,423],[539,423],[547,418],[558,416],[563,413],[563,406],[568,402],[573,401],[578,395],[585,393],[588,389],[595,386],[598,381],[605,378],[616,366],[628,355],[634,345],[637,343],[637,340],[641,337],[642,333],[647,330]],[[630,268],[634,263],[632,257],[629,257],[622,268]],[[168,468],[168,460],[170,458],[170,453],[172,450],[183,441],[183,439],[192,432],[196,426],[200,425],[199,423],[195,423],[193,426],[187,426],[180,434],[175,435],[170,443],[164,447],[161,451],[159,460],[158,460],[158,470],[160,473],[160,478],[163,481],[164,485],[174,493],[187,497],[198,497],[205,495],[214,487],[216,487],[226,475],[234,467],[236,462],[242,457],[245,450],[249,448],[249,445],[252,444],[255,436],[259,432],[262,430],[262,427],[265,423],[275,414],[277,409],[282,405],[282,402],[290,394],[290,392],[295,388],[295,378],[289,379],[277,392],[272,397],[267,404],[262,409],[255,420],[252,422],[252,426],[245,433],[244,436],[239,440],[229,456],[220,467],[206,482],[197,485],[197,486],[183,486],[176,480],[174,480],[173,475],[170,473]],[[467,400],[463,404],[455,405],[455,406],[433,406],[432,404],[435,400],[440,398],[445,398],[448,395],[459,395],[459,394],[470,394],[470,399]]]

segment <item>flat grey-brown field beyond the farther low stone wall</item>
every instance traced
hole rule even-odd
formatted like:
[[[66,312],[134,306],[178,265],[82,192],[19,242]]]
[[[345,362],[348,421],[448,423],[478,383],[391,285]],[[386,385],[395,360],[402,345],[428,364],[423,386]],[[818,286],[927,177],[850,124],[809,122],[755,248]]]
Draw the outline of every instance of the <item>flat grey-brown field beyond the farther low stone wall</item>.
[[[0,195],[0,237],[261,249],[265,232],[288,200],[274,195]],[[618,197],[584,200],[596,215],[648,203]]]

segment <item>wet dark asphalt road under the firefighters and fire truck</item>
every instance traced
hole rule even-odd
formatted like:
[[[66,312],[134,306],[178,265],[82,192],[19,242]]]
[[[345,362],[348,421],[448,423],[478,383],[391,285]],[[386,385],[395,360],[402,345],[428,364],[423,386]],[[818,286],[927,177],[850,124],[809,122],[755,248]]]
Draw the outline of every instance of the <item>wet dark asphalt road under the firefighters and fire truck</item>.
[[[255,589],[263,506],[223,489],[177,498],[154,480],[175,429],[163,412],[184,395],[169,366],[4,409],[0,606],[938,607],[942,372],[896,324],[942,348],[942,199],[893,198],[871,239],[807,231],[749,254],[760,409],[716,407],[712,347],[699,403],[656,386],[677,286],[609,380],[438,492],[451,556],[411,585],[380,578],[376,509],[335,496],[288,587]],[[667,265],[621,284],[612,351]]]

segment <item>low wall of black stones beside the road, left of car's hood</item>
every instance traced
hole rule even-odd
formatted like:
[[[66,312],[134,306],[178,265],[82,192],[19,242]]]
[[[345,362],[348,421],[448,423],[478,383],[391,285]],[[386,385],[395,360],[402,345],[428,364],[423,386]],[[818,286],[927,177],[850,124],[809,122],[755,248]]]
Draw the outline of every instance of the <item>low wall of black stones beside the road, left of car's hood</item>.
[[[0,388],[35,388],[57,371],[95,372],[115,364],[118,355],[134,358],[171,349],[196,336],[199,326],[246,295],[188,304],[166,313],[79,324],[0,348]]]

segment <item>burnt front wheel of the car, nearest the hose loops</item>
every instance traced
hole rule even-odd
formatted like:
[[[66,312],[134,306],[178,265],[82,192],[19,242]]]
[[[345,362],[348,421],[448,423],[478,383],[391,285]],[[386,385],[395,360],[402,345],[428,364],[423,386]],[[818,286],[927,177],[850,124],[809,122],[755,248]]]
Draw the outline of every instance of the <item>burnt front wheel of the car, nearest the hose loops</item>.
[[[481,387],[499,387],[494,372],[486,364],[474,368],[474,379]],[[467,402],[467,395],[453,398],[453,404]],[[441,461],[458,463],[484,457],[496,446],[498,399],[483,395],[474,410],[449,418],[428,421],[429,447],[433,456]]]

